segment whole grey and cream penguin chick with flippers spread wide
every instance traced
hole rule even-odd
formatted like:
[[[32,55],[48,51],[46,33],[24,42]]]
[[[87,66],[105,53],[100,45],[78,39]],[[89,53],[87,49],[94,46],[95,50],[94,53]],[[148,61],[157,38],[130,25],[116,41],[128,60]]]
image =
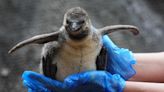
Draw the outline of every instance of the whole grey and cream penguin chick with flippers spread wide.
[[[37,35],[14,46],[9,53],[28,44],[45,44],[41,54],[41,71],[45,76],[63,81],[68,75],[88,70],[105,69],[106,52],[102,36],[120,30],[139,33],[132,25],[111,25],[97,29],[88,13],[80,8],[69,9],[59,31]]]

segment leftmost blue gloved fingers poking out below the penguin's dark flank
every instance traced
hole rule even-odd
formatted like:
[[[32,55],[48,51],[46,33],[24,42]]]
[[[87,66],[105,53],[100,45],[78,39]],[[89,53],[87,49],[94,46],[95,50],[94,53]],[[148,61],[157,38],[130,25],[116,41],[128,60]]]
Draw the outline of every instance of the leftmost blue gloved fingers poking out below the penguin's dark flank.
[[[61,82],[47,78],[39,73],[25,71],[22,75],[22,78],[24,80],[25,86],[31,89],[41,89],[45,92],[48,92],[47,89],[55,90],[58,92],[63,90],[63,84]]]

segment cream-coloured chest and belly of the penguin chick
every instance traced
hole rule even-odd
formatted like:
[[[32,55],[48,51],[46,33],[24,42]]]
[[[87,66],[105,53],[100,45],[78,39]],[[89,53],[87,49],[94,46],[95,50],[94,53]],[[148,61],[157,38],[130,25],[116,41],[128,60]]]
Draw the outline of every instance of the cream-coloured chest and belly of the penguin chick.
[[[83,45],[71,46],[64,43],[58,54],[57,80],[63,80],[70,74],[96,70],[96,58],[100,52],[101,44],[97,41],[88,40]]]

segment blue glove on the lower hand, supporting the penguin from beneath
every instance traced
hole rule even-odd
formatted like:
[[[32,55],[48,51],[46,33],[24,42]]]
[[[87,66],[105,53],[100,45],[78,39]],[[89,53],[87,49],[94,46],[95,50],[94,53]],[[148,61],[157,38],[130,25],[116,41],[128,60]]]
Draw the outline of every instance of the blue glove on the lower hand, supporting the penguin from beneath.
[[[73,74],[63,83],[31,71],[25,71],[22,78],[29,92],[122,92],[125,87],[118,74],[105,71]]]

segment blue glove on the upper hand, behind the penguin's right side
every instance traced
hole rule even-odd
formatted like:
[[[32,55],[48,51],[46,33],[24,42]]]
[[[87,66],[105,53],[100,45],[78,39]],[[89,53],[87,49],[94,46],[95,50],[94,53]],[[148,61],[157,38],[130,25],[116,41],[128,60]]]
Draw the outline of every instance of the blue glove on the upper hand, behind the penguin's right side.
[[[136,63],[132,52],[128,49],[117,47],[110,38],[103,36],[103,46],[107,49],[107,71],[111,74],[119,74],[125,80],[135,75],[132,65]]]

